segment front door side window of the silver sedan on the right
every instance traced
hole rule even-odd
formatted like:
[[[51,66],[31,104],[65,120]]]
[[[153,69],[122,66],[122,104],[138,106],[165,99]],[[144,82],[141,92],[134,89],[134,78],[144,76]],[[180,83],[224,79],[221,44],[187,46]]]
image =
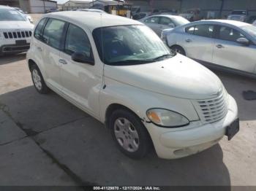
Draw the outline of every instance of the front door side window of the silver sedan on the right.
[[[236,42],[241,37],[244,37],[244,35],[233,28],[227,26],[221,26],[219,28],[219,39]]]

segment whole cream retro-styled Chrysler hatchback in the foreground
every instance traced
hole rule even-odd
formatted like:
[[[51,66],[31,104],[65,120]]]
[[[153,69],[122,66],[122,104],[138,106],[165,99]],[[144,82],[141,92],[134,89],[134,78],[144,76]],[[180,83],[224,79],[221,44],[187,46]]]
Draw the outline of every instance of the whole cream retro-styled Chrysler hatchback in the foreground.
[[[86,19],[85,19],[86,18]],[[34,87],[49,88],[110,128],[129,157],[185,157],[231,139],[236,101],[199,63],[171,53],[142,23],[97,12],[39,21],[27,53]]]

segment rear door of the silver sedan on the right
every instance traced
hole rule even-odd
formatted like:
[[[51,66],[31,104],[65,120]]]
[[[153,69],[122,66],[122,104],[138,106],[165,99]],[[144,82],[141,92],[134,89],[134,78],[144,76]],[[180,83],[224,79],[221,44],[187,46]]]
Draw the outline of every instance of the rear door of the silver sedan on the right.
[[[202,24],[185,28],[185,34],[181,39],[189,58],[199,61],[212,61],[214,46],[214,25]]]

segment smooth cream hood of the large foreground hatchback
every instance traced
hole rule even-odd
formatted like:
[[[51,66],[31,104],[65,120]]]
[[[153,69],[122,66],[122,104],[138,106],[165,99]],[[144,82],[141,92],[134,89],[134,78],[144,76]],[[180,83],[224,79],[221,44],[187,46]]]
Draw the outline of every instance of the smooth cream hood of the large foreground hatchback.
[[[155,63],[105,65],[104,74],[127,85],[178,98],[213,98],[223,87],[213,72],[179,54]]]

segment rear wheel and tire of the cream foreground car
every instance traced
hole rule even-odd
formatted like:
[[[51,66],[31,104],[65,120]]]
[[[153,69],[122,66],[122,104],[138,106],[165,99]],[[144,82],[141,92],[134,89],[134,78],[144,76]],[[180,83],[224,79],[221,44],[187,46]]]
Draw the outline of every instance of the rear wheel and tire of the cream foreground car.
[[[50,91],[49,87],[45,84],[41,71],[35,64],[31,66],[31,78],[38,93],[46,94]]]

